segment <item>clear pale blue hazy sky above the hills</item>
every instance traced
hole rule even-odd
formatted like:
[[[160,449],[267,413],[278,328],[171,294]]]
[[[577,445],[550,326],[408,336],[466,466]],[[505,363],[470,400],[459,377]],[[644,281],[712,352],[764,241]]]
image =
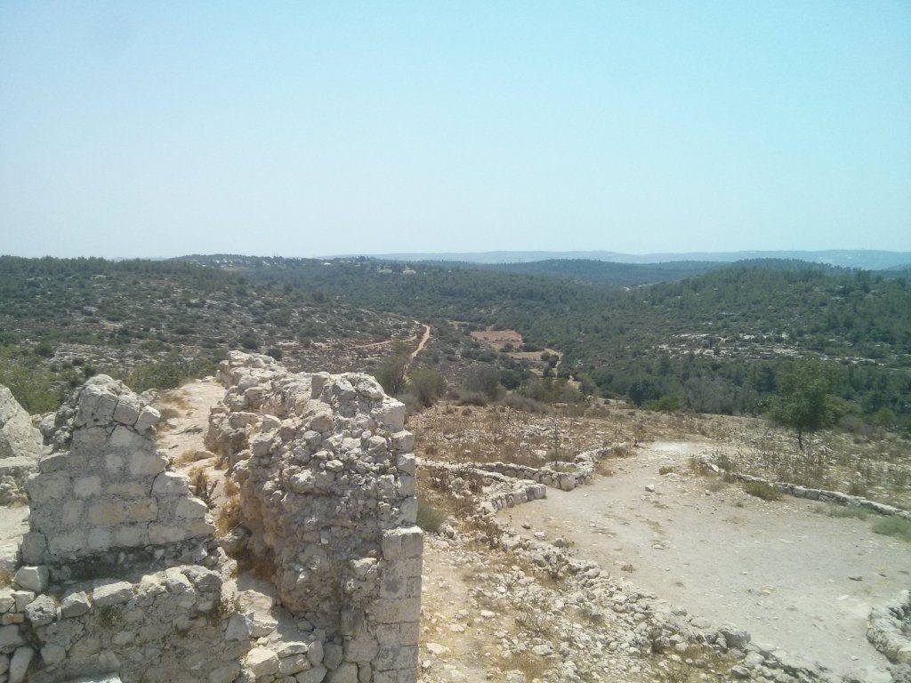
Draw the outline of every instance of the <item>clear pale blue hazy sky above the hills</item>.
[[[0,253],[911,250],[911,2],[0,0]]]

